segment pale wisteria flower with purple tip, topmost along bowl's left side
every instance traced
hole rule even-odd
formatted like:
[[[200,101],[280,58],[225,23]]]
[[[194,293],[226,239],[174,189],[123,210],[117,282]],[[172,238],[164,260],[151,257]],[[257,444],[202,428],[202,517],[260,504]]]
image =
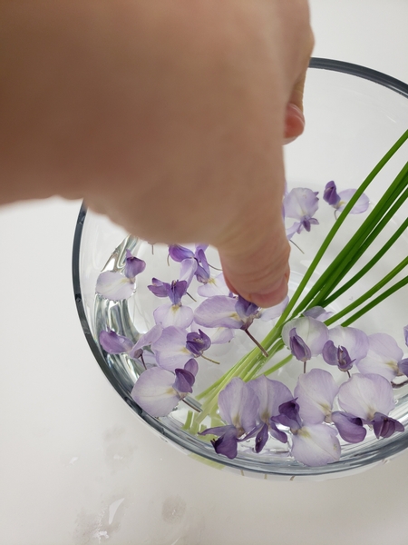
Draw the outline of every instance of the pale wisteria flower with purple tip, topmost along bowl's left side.
[[[110,301],[129,299],[134,292],[136,276],[145,268],[146,263],[143,260],[134,257],[129,250],[126,250],[123,271],[101,272],[96,282],[95,291]]]

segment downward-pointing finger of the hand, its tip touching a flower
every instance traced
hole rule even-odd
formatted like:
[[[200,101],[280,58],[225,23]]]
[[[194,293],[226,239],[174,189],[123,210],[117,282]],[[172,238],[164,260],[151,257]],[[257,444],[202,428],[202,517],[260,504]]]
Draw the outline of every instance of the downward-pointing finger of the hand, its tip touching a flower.
[[[219,247],[228,288],[260,307],[282,302],[289,279],[290,247],[281,199],[269,211],[255,217],[248,214],[248,220],[239,224],[238,235],[226,247]]]

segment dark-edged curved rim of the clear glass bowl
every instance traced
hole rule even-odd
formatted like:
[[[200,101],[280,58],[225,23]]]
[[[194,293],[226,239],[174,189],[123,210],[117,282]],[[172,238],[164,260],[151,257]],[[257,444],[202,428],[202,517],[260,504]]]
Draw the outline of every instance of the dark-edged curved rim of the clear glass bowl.
[[[323,57],[312,57],[309,63],[309,68],[316,68],[320,70],[328,70],[328,71],[334,71],[338,73],[344,73],[349,75],[355,75],[357,77],[363,78],[365,80],[369,80],[373,82],[374,84],[380,84],[384,87],[394,91],[397,94],[402,94],[405,98],[408,99],[408,84],[405,84],[401,80],[398,80],[388,74],[384,74],[382,72],[378,72],[377,70],[374,70],[372,68],[368,68],[366,66],[363,66],[361,64],[353,64],[353,63],[346,63],[345,61],[338,61],[334,59],[328,59]],[[131,399],[131,396],[128,391],[126,391],[121,383],[118,381],[115,381],[112,378],[112,372],[110,370],[108,362],[106,362],[105,358],[102,355],[102,352],[98,346],[98,344],[95,342],[91,328],[88,322],[88,319],[86,317],[85,308],[83,305],[83,296],[82,296],[82,289],[81,289],[81,281],[80,281],[80,252],[81,252],[81,241],[82,241],[82,234],[83,234],[83,223],[85,221],[87,213],[87,208],[84,203],[82,203],[81,210],[78,214],[78,219],[75,226],[75,232],[73,237],[73,260],[72,260],[72,271],[73,271],[73,292],[74,292],[74,299],[76,304],[76,309],[79,315],[79,319],[81,322],[81,325],[83,327],[83,333],[85,335],[86,341],[88,342],[91,351],[93,353],[93,356],[95,357],[96,361],[98,362],[99,366],[102,369],[102,372],[110,381],[112,384],[112,387],[119,393],[121,398],[131,407],[132,411],[135,411],[143,421],[145,421],[153,430],[158,431],[160,435],[166,439],[169,439],[173,443],[175,443],[178,447],[180,447],[182,450],[188,450],[189,452],[193,454],[199,455],[199,457],[206,459],[207,461],[213,462],[213,463],[219,463],[222,466],[229,466],[230,468],[234,469],[240,469],[240,464],[237,461],[230,461],[227,458],[223,457],[222,459],[219,459],[219,461],[216,461],[214,457],[210,457],[207,455],[206,452],[199,451],[198,449],[191,448],[186,446],[184,441],[177,435],[176,432],[166,428],[165,426],[162,426],[160,421],[156,418],[151,417],[148,413],[143,411],[141,407]],[[393,441],[390,443],[387,449],[386,458],[389,458],[400,451],[403,451],[408,447],[407,441]],[[327,466],[322,466],[319,468],[306,468],[308,475],[328,475],[332,473],[341,473],[343,471],[350,471],[352,469],[357,469],[359,467],[362,467],[364,465],[372,466],[376,462],[380,462],[384,460],[384,454],[381,449],[377,449],[374,451],[373,456],[369,461],[366,461],[364,463],[356,464],[349,466],[345,464],[345,467],[335,466],[334,464],[328,464]],[[293,470],[293,468],[292,468]],[[250,472],[256,472],[256,473],[262,473],[265,474],[265,469],[259,469],[257,468],[251,468],[250,470],[246,470]],[[288,471],[282,472],[282,471],[270,471],[269,474],[277,475],[280,477],[284,477],[285,475],[289,476],[296,473],[296,471],[290,471],[290,468],[288,467]]]

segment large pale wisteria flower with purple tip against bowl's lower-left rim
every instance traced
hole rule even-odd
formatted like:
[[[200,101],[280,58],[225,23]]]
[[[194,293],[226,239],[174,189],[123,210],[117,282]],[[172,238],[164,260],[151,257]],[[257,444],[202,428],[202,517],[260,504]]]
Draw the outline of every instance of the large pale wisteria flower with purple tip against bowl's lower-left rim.
[[[180,400],[192,392],[198,370],[199,366],[193,359],[182,369],[175,369],[174,373],[152,367],[141,373],[133,386],[131,397],[151,416],[167,416]]]

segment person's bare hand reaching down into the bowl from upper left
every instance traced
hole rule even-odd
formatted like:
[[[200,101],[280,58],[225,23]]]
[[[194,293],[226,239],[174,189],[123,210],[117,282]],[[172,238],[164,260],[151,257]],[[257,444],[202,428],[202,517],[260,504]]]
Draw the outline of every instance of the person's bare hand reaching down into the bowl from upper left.
[[[0,203],[84,198],[211,243],[234,292],[276,304],[312,47],[306,0],[0,0]]]

